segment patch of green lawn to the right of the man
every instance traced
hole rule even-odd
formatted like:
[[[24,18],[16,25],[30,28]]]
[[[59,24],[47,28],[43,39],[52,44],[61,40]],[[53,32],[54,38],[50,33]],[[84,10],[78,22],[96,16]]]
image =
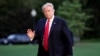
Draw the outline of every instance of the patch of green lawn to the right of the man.
[[[78,43],[74,47],[74,56],[100,56],[100,43]]]

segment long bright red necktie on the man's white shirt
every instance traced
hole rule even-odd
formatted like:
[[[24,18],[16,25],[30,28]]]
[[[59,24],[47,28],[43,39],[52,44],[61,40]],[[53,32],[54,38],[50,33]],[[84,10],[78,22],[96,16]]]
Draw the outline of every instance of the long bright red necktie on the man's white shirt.
[[[48,36],[49,36],[49,20],[45,25],[44,35],[43,35],[43,47],[46,51],[48,51]]]

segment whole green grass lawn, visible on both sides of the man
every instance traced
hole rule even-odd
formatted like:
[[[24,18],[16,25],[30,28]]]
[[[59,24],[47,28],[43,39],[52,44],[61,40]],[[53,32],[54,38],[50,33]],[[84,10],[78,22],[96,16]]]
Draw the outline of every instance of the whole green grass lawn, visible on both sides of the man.
[[[0,56],[36,56],[38,45],[0,45]],[[74,56],[100,56],[100,42],[77,43]]]

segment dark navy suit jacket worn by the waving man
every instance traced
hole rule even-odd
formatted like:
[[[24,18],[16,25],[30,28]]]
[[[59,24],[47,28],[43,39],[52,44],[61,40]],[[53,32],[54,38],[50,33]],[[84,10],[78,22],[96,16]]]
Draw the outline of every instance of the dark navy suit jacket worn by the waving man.
[[[45,56],[43,42],[43,33],[46,19],[38,21],[35,28],[36,36],[39,42],[38,56]],[[66,22],[59,17],[54,17],[49,38],[49,56],[72,56],[72,41]]]

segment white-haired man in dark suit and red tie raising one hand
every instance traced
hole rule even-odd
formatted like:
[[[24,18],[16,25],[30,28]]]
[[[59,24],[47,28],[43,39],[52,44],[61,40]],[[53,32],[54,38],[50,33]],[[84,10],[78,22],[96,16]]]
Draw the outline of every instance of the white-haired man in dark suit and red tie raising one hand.
[[[40,19],[34,31],[27,30],[31,40],[38,39],[38,56],[72,56],[72,41],[66,22],[54,15],[52,3],[42,7],[45,15]]]

